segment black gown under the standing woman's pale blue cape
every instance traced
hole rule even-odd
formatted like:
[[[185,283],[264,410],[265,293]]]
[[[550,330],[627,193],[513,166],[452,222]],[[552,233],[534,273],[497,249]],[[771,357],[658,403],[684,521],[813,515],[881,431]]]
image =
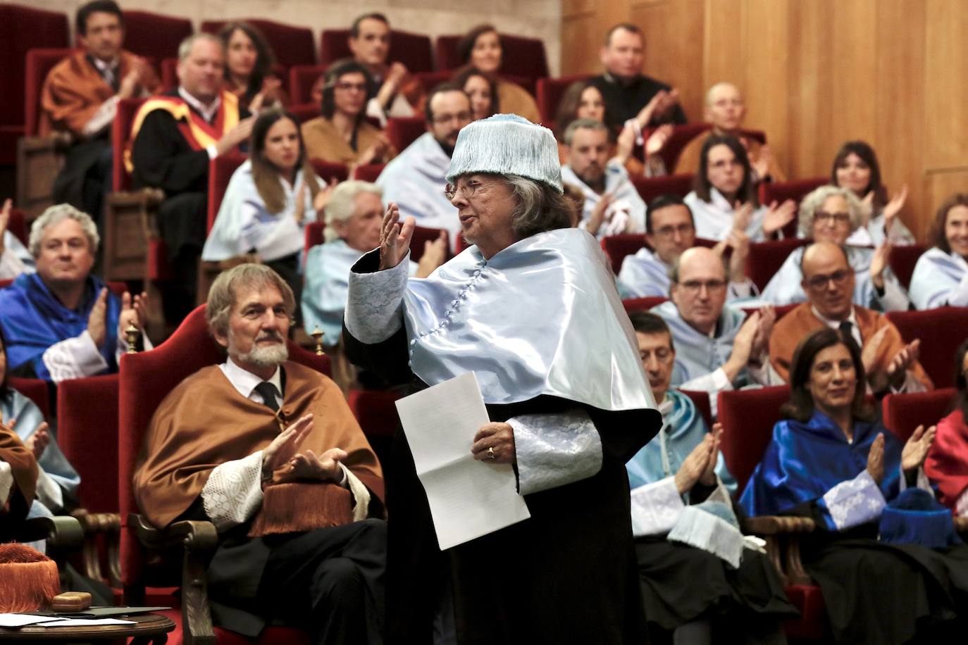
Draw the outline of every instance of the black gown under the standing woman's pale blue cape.
[[[374,345],[352,337],[346,326],[343,337],[355,365],[390,383],[426,387],[409,370],[403,328]],[[574,405],[538,396],[487,410],[502,422]],[[602,441],[596,475],[527,495],[529,519],[442,552],[407,438],[398,430],[385,469],[387,643],[431,643],[441,595],[451,590],[461,645],[645,642],[625,462],[658,425],[644,430],[654,420],[643,410],[586,409]]]

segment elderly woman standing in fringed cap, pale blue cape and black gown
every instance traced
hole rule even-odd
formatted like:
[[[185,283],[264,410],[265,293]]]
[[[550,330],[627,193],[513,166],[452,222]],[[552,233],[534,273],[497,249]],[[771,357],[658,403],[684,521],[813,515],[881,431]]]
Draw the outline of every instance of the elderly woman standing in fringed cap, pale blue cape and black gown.
[[[473,244],[409,279],[413,220],[390,204],[349,276],[351,360],[399,383],[474,371],[492,423],[468,442],[516,465],[530,518],[439,550],[395,439],[387,641],[641,643],[624,463],[661,423],[594,239],[568,228],[551,131],[499,114],[461,131],[447,196]]]

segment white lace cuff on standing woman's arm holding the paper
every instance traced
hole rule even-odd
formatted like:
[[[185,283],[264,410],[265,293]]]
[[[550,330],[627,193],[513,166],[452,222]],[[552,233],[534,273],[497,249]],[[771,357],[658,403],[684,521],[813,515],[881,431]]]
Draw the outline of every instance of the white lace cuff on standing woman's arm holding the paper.
[[[512,417],[522,495],[591,477],[602,467],[602,440],[580,408],[561,414]]]

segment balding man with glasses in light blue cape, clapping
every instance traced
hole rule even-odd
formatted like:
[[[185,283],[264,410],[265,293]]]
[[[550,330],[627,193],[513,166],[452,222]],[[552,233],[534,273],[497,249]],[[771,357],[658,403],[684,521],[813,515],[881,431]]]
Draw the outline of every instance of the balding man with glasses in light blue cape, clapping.
[[[727,268],[712,249],[682,251],[670,272],[672,300],[652,308],[662,316],[676,345],[672,384],[716,395],[747,385],[773,385],[767,344],[776,314],[771,307],[747,316],[724,308]]]

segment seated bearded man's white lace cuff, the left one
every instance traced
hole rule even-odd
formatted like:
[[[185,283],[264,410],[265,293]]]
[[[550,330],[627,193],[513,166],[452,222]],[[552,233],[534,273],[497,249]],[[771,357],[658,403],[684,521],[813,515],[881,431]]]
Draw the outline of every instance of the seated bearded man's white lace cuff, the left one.
[[[201,502],[219,532],[248,521],[262,506],[262,451],[216,466]]]

